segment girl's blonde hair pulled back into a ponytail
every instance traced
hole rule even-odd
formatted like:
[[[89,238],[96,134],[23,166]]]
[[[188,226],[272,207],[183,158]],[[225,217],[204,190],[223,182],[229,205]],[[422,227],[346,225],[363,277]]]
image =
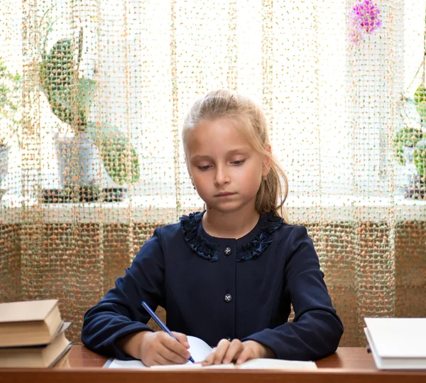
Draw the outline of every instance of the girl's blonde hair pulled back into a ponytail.
[[[271,168],[266,178],[262,178],[256,195],[255,208],[259,214],[273,212],[286,219],[283,204],[288,194],[288,179],[278,162],[268,151],[270,141],[268,126],[263,110],[249,97],[229,90],[214,90],[198,99],[187,113],[182,129],[182,141],[187,153],[189,132],[204,120],[226,118],[234,122],[236,129],[244,134],[250,146],[262,156],[271,159]],[[282,178],[283,186],[280,182]]]

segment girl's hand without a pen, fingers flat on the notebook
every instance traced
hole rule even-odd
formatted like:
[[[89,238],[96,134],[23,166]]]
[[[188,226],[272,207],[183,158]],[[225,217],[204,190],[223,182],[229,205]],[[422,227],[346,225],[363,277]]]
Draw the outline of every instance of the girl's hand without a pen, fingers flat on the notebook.
[[[237,365],[251,359],[273,358],[275,355],[268,347],[254,340],[234,339],[231,342],[226,339],[219,340],[216,350],[206,357],[202,362],[203,366],[221,365],[236,362]]]

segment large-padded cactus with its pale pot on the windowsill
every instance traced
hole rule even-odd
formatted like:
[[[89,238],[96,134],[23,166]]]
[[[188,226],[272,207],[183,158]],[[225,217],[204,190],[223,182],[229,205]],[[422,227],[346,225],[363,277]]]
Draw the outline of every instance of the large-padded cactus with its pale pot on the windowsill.
[[[82,29],[77,43],[62,38],[47,53],[43,48],[40,63],[40,85],[50,109],[73,136],[58,145],[62,201],[119,200],[126,186],[139,179],[138,156],[129,137],[118,126],[95,124],[90,120],[90,107],[96,93],[94,80],[79,77],[82,58]],[[97,161],[113,182],[102,188]],[[51,200],[52,195],[48,195]],[[55,198],[53,198],[55,200]],[[61,200],[61,199],[59,199]]]

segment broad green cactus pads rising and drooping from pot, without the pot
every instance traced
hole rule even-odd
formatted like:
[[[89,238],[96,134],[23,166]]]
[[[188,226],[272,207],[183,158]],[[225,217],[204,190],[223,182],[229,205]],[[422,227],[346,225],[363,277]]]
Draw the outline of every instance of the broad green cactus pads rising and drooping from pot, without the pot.
[[[76,134],[85,132],[92,138],[111,179],[119,185],[134,183],[140,177],[139,164],[129,137],[117,126],[94,124],[89,119],[97,87],[94,80],[79,77],[82,41],[80,29],[77,43],[62,38],[49,53],[43,48],[40,84],[52,112]]]

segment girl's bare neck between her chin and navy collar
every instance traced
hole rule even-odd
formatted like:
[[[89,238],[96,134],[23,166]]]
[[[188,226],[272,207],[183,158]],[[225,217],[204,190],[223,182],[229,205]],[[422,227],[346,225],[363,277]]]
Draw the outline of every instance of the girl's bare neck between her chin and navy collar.
[[[219,212],[207,206],[202,226],[207,234],[219,238],[241,238],[253,230],[259,220],[254,206],[238,212]]]

